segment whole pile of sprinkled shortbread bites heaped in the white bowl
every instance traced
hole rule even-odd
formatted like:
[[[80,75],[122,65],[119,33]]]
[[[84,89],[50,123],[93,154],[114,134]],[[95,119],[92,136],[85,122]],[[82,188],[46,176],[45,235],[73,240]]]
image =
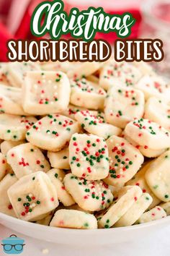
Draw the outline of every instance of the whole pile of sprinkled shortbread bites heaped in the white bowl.
[[[0,212],[71,229],[170,215],[170,86],[143,62],[0,64]]]

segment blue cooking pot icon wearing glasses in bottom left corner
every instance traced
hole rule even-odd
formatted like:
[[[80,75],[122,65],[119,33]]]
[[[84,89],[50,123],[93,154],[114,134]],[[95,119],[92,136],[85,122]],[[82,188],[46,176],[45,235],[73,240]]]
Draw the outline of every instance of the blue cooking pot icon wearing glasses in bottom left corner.
[[[12,234],[6,239],[2,240],[3,250],[7,255],[19,255],[23,252],[24,248],[24,239],[17,237],[16,235]]]

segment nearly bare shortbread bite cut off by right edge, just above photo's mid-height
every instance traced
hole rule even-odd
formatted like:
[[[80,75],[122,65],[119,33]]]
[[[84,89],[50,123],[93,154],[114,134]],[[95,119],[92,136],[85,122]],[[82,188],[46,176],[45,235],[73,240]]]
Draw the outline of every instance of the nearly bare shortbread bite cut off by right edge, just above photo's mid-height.
[[[156,97],[149,98],[146,102],[144,117],[170,130],[170,106],[164,101]]]

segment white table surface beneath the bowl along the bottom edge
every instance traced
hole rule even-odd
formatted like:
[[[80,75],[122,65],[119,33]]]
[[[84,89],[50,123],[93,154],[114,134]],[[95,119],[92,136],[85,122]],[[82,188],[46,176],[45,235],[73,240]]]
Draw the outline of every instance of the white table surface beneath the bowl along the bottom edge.
[[[161,229],[152,236],[140,242],[113,244],[107,247],[64,247],[37,239],[32,239],[0,225],[0,239],[16,234],[25,240],[24,252],[21,256],[169,256],[170,255],[170,227]],[[1,244],[1,241],[0,241]],[[45,249],[46,254],[43,253]],[[44,251],[44,252],[45,252]],[[0,255],[6,255],[0,245]]]

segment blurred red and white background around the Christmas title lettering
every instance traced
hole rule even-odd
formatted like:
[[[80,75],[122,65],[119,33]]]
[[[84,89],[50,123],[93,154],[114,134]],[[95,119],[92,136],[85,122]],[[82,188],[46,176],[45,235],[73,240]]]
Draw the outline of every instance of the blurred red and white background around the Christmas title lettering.
[[[170,0],[63,0],[65,10],[103,7],[109,14],[130,12],[137,20],[130,38],[159,38],[164,42],[165,59],[156,69],[170,74]],[[0,61],[6,61],[6,41],[11,38],[35,39],[30,33],[30,18],[42,0],[0,0]],[[68,38],[69,35],[66,35]],[[113,44],[115,33],[97,33]]]

